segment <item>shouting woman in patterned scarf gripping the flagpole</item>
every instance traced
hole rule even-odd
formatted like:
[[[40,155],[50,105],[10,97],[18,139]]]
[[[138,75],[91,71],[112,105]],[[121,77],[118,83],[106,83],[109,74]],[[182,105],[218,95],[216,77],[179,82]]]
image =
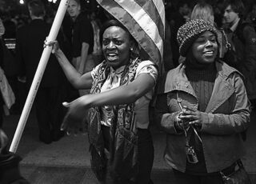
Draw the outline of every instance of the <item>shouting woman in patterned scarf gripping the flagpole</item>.
[[[53,53],[66,77],[77,89],[91,89],[68,108],[62,129],[77,134],[89,109],[88,135],[91,166],[102,183],[148,184],[154,160],[149,126],[149,104],[158,69],[142,61],[138,43],[126,27],[109,20],[101,30],[105,60],[86,74],[79,74],[58,44]]]

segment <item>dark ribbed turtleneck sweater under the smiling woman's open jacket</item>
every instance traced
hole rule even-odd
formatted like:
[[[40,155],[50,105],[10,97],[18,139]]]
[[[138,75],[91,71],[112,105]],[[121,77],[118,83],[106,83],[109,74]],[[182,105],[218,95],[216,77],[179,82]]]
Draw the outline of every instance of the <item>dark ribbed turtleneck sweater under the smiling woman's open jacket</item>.
[[[210,101],[211,94],[214,89],[214,81],[216,78],[216,67],[214,63],[202,65],[199,63],[191,63],[186,61],[186,77],[190,81],[191,86],[198,98],[198,110],[205,112],[206,107]],[[186,173],[190,174],[206,174],[206,163],[202,150],[202,142],[199,141],[194,131],[190,129],[190,146],[194,147],[194,150],[198,157],[198,163],[186,164]],[[198,131],[200,136],[200,132]]]

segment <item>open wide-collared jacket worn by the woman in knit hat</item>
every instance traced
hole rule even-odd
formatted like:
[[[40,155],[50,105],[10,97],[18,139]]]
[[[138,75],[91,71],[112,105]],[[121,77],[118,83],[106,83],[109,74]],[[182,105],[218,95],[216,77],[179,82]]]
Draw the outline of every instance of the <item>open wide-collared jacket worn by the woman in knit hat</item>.
[[[224,62],[215,62],[217,76],[210,102],[202,113],[202,149],[207,173],[231,166],[245,154],[241,132],[250,122],[249,100],[242,75]],[[198,109],[198,98],[181,64],[166,74],[158,88],[156,122],[166,132],[166,162],[176,170],[186,170],[185,134],[175,130],[174,121],[182,106]],[[190,135],[189,135],[190,138]]]

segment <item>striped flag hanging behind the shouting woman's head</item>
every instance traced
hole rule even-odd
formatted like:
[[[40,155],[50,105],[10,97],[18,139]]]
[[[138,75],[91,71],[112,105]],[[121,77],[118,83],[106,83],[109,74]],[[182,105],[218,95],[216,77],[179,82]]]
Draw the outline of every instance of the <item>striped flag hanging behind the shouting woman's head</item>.
[[[97,0],[98,4],[126,26],[138,44],[161,66],[165,35],[162,0]]]

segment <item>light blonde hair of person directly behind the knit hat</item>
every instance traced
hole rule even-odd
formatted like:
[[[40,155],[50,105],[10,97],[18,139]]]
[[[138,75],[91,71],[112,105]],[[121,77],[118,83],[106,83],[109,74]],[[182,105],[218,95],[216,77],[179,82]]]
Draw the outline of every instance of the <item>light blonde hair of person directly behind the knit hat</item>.
[[[205,2],[198,3],[194,6],[190,19],[203,19],[214,24],[214,9]]]

